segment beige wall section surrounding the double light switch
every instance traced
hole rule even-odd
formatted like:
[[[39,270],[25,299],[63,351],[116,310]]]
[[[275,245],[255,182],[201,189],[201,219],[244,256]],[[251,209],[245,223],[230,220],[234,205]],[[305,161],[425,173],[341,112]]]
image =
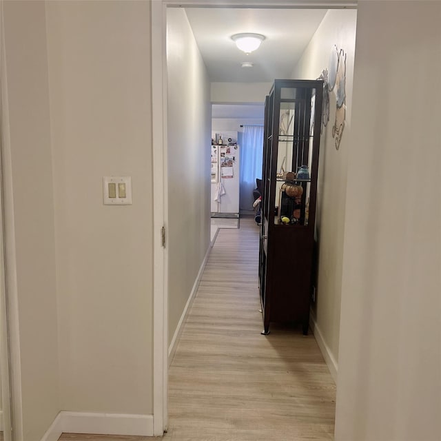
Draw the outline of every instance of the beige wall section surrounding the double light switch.
[[[61,409],[148,415],[150,3],[48,1],[46,10]],[[103,205],[112,175],[132,176],[133,205]]]

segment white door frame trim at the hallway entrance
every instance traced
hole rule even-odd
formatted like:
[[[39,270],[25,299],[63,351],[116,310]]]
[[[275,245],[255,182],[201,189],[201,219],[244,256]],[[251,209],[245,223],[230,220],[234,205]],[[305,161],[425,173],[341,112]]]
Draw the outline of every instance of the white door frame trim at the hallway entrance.
[[[167,8],[356,9],[358,0],[151,0],[153,153],[153,430],[168,427]]]

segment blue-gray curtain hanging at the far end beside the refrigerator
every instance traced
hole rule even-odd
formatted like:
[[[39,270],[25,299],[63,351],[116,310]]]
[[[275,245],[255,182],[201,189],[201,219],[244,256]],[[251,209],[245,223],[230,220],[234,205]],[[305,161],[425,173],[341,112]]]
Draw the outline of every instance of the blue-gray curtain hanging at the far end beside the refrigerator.
[[[262,178],[263,125],[244,125],[238,134],[240,145],[240,209],[253,210],[256,178]]]

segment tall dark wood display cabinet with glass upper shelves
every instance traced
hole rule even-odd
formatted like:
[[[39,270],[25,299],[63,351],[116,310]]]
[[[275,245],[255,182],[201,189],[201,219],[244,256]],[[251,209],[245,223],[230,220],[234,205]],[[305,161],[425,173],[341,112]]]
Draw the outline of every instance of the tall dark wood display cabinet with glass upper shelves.
[[[322,81],[276,80],[265,100],[259,283],[270,322],[309,328]]]

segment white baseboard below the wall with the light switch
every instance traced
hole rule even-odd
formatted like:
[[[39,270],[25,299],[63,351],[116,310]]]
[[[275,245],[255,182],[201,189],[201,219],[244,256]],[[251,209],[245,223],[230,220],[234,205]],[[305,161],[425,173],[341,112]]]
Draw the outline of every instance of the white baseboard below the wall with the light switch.
[[[61,411],[41,441],[57,441],[61,433],[153,436],[153,416]]]

